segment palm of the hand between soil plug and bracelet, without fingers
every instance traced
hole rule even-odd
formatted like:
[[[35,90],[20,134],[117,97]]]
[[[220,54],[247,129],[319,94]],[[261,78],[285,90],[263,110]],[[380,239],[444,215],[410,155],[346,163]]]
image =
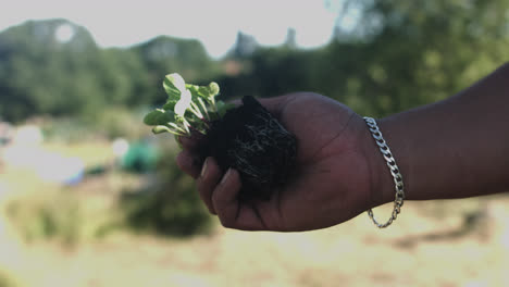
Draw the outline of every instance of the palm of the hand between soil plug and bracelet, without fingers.
[[[370,178],[358,142],[359,115],[305,93],[293,96],[281,111],[280,120],[299,142],[297,176],[270,201],[246,208],[245,216],[256,214],[265,229],[302,230],[332,226],[365,210]]]

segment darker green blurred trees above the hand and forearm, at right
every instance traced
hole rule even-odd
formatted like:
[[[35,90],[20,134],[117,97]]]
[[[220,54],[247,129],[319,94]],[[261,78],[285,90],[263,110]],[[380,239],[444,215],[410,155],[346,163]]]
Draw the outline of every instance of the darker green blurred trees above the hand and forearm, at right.
[[[223,97],[309,90],[384,116],[449,97],[509,59],[507,1],[346,5],[361,9],[353,32],[337,28],[331,43],[316,50],[259,49],[249,70],[218,80]]]

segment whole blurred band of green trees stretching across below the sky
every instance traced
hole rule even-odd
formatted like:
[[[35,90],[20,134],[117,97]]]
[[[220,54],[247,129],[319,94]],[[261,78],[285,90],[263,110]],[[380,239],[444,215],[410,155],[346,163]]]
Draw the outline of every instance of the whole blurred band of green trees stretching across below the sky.
[[[164,102],[159,83],[178,71],[191,83],[219,82],[222,99],[310,90],[383,116],[444,99],[509,58],[504,0],[347,0],[345,7],[360,10],[362,21],[353,30],[337,27],[320,49],[260,48],[240,33],[226,59],[239,72],[222,70],[197,40],[158,37],[99,49],[86,29],[64,20],[27,22],[0,34],[0,115],[98,118],[111,107],[173,110],[177,101]],[[67,42],[54,37],[61,25],[75,32]]]

